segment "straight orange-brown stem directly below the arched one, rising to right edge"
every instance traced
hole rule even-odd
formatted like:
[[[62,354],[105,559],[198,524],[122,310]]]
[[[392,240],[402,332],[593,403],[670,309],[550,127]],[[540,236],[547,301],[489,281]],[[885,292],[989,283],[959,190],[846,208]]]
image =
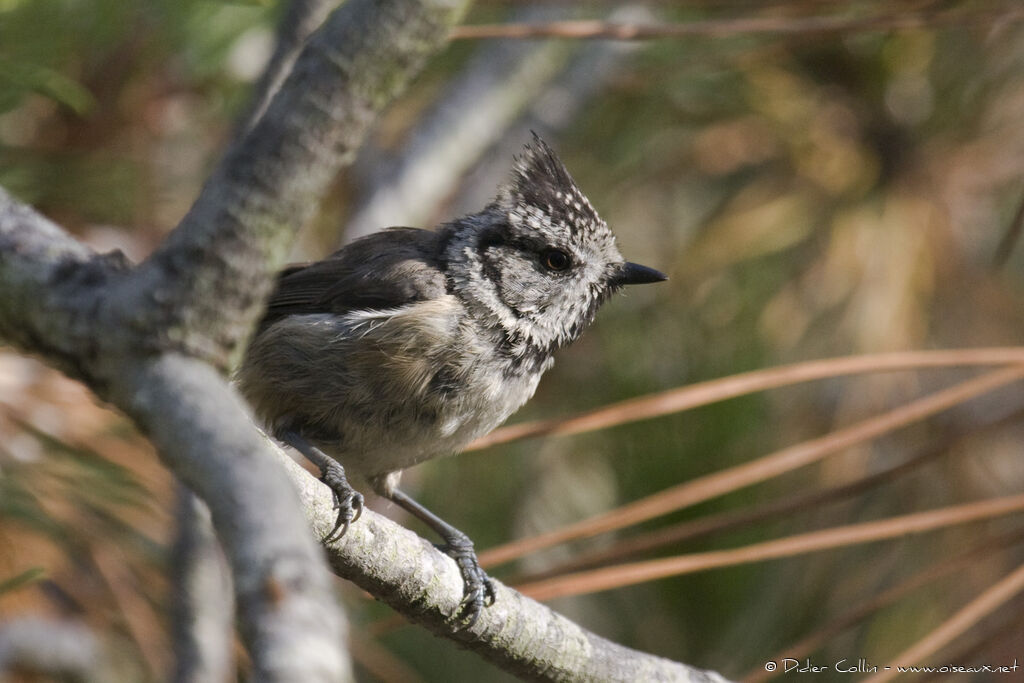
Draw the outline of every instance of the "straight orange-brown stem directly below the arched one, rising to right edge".
[[[481,564],[508,562],[543,548],[582,539],[681,510],[738,488],[765,481],[817,462],[827,455],[877,438],[890,431],[1024,378],[1024,366],[993,371],[962,382],[883,415],[836,430],[759,458],[750,463],[705,475],[575,524],[528,539],[513,541],[480,553]]]

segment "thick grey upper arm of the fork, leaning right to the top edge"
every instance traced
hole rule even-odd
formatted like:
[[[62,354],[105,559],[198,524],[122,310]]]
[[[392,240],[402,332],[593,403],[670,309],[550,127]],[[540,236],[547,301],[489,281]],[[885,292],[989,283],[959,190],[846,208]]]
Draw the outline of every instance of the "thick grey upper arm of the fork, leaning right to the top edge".
[[[163,332],[161,350],[231,367],[296,231],[467,4],[349,0],[335,10],[178,227],[120,288],[133,325]]]

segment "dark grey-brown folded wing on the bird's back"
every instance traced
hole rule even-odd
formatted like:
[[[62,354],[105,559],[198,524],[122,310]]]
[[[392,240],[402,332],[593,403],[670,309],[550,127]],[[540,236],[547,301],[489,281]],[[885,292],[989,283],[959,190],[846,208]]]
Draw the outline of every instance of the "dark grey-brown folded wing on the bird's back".
[[[287,315],[394,308],[446,292],[438,234],[395,227],[361,238],[323,261],[278,276],[261,328]]]

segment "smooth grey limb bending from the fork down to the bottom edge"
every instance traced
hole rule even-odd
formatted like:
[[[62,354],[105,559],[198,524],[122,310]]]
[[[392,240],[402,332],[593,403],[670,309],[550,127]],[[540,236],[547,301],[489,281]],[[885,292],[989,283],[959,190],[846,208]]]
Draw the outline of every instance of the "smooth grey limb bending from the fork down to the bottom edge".
[[[318,548],[242,399],[208,364],[178,353],[126,364],[110,397],[210,508],[230,558],[257,680],[347,680],[344,624]],[[285,488],[288,488],[287,483]]]

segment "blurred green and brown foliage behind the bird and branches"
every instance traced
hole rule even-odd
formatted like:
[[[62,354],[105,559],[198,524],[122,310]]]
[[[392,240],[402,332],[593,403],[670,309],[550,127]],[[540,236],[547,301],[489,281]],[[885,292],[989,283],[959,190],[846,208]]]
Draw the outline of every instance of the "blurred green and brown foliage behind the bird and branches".
[[[97,249],[143,258],[223,150],[280,11],[271,2],[0,0],[0,185]],[[1018,343],[1024,248],[993,265],[1024,197],[1016,0],[480,0],[467,24],[822,15],[923,20],[628,44],[456,41],[380,122],[294,256],[479,208],[532,128],[559,150],[623,253],[671,280],[609,303],[513,421],[781,362]],[[497,446],[406,477],[487,548],[827,433],[969,374],[800,385]],[[856,481],[925,453],[919,467],[855,497],[658,552],[1019,492],[1022,403],[1020,387],[1004,389],[642,528]],[[173,601],[164,578],[172,498],[171,477],[122,417],[0,347],[0,616],[74,615],[101,630],[124,680],[160,678]],[[554,606],[627,645],[738,677],[887,588],[1020,526],[1008,516]],[[543,569],[636,532],[557,548],[496,575]],[[885,664],[1021,561],[1019,539],[1008,538],[829,637],[812,657]],[[341,582],[339,591],[365,680],[504,680],[451,643],[397,626]],[[1020,598],[1008,602],[934,663],[1012,664],[1022,654],[1021,607]]]

